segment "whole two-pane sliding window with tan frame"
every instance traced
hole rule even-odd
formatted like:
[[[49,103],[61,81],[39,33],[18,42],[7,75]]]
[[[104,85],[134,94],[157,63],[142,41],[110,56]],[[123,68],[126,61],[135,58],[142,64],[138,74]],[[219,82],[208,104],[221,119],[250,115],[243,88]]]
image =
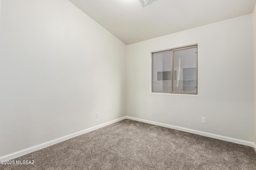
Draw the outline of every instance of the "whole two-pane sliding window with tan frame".
[[[152,92],[197,94],[197,45],[152,53]]]

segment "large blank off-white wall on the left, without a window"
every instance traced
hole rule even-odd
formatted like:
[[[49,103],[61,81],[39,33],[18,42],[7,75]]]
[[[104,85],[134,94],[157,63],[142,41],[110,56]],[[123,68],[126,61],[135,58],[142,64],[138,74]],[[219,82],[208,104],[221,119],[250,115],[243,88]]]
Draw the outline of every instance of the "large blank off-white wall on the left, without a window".
[[[4,156],[125,116],[126,45],[68,0],[2,0],[0,81]]]

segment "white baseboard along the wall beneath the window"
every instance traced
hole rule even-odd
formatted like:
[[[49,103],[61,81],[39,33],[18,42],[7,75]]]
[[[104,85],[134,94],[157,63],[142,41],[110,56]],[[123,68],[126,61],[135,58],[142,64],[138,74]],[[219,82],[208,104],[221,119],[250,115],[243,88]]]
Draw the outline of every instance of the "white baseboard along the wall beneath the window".
[[[144,119],[138,119],[135,117],[130,117],[130,116],[126,116],[126,119],[131,119],[131,120],[135,120],[135,121],[141,121],[144,123],[149,123],[152,125],[158,125],[158,126],[162,126],[162,127],[167,127],[170,129],[176,129],[179,131],[185,131],[185,132],[189,132],[189,133],[194,133],[196,135],[201,135],[201,136],[206,136],[206,137],[211,137],[214,139],[220,139],[222,141],[228,141],[228,142],[232,142],[232,143],[237,143],[237,144],[241,144],[241,145],[246,145],[249,147],[254,147],[254,149],[256,150],[256,145],[253,142],[250,141],[244,141],[241,139],[236,139],[236,138],[231,138],[231,137],[225,137],[222,135],[216,135],[213,133],[207,133],[207,132],[203,132],[203,131],[197,131],[197,130],[193,130],[193,129],[188,129],[188,128],[184,128],[184,127],[179,127],[179,126],[174,126],[174,125],[168,125],[168,124],[164,124],[164,123],[158,123],[155,121],[149,121],[149,120],[144,120]]]

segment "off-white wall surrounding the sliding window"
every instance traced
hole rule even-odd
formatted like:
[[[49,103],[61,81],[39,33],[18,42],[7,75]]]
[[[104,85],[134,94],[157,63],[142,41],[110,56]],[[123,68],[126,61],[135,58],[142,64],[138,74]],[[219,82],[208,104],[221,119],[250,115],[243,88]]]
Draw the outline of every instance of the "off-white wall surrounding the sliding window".
[[[198,95],[151,93],[151,52],[194,44]],[[127,116],[253,141],[252,14],[127,45],[126,54]]]

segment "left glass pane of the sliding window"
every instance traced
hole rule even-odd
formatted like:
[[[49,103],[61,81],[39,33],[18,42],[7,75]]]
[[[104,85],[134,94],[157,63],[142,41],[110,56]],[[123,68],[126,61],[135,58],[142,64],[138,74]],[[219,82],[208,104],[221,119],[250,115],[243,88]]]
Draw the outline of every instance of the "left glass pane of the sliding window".
[[[172,92],[172,51],[153,53],[152,92]]]

